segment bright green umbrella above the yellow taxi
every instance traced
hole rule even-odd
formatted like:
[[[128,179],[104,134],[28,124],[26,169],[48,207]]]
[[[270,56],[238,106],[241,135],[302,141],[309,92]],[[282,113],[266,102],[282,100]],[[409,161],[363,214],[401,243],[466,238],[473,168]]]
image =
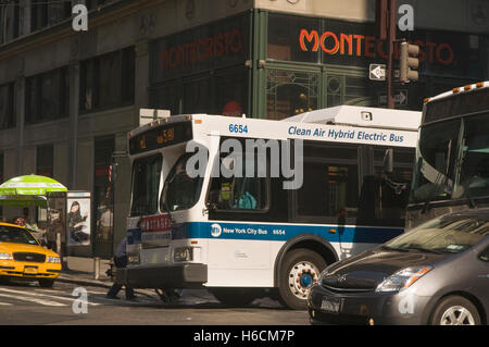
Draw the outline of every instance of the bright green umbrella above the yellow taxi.
[[[0,205],[22,207],[34,202],[46,206],[46,196],[59,191],[67,191],[67,188],[50,177],[14,177],[0,185]]]

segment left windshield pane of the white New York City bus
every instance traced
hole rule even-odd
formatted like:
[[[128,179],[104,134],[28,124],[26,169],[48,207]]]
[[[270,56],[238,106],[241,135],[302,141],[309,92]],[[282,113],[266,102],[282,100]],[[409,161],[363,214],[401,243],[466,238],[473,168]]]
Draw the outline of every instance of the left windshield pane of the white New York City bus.
[[[130,215],[148,215],[158,212],[161,166],[160,154],[140,158],[134,162]]]

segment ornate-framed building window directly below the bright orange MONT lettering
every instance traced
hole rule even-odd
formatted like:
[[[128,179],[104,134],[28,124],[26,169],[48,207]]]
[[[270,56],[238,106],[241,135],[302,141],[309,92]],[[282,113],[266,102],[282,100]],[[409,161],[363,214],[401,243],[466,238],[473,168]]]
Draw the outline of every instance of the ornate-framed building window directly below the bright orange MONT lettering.
[[[318,107],[319,74],[267,70],[266,117],[283,120]]]

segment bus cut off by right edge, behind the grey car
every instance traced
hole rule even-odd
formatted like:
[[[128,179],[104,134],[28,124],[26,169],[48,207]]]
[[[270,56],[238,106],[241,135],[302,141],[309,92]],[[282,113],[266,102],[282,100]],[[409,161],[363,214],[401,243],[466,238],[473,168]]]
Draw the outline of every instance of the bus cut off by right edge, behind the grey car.
[[[425,99],[406,228],[489,205],[489,82]]]

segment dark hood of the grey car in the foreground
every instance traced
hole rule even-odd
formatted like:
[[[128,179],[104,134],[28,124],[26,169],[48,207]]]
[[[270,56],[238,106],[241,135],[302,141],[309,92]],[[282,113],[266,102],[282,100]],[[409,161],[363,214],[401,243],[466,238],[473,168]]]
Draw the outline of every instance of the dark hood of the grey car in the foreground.
[[[371,250],[334,264],[323,277],[323,285],[337,289],[375,290],[386,277],[402,269],[432,264],[447,257],[415,250]]]

